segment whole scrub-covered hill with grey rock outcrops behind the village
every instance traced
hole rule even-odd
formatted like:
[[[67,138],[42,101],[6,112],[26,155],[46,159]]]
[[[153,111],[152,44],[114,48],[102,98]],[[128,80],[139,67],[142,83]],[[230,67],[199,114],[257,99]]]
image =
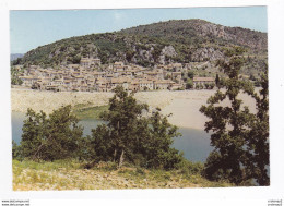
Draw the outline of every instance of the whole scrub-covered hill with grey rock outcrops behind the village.
[[[203,20],[175,20],[58,40],[28,51],[14,64],[56,66],[79,63],[82,57],[99,58],[103,64],[123,61],[143,66],[212,62],[233,46],[246,48],[248,69],[263,68],[267,62],[267,33]]]

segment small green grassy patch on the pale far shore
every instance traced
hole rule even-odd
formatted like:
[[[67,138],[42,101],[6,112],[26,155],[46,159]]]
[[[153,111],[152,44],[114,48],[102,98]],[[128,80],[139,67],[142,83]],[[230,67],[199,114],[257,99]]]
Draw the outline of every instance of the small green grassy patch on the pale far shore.
[[[73,107],[72,113],[75,114],[79,120],[87,119],[99,119],[99,114],[108,110],[108,105],[105,106],[95,106],[80,104]]]

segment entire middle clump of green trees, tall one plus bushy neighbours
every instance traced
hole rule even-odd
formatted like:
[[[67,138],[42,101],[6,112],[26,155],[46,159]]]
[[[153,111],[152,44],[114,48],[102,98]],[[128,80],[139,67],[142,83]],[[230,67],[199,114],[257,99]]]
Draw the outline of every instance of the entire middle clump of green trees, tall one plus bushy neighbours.
[[[179,135],[177,128],[158,109],[151,117],[143,116],[147,105],[139,105],[133,94],[129,95],[122,87],[117,87],[109,111],[102,116],[107,124],[92,130],[88,137],[91,158],[116,161],[118,167],[123,160],[147,168],[177,167],[182,157],[170,147],[173,138]]]

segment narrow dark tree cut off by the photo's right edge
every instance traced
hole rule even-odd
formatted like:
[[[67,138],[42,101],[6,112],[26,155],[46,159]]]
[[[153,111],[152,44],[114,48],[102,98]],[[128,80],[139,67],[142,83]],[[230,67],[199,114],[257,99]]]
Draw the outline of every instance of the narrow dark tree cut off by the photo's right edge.
[[[261,90],[250,94],[257,102],[257,114],[249,122],[250,131],[246,136],[248,142],[246,167],[250,170],[250,178],[256,179],[260,185],[269,185],[269,89],[268,73],[261,76]]]

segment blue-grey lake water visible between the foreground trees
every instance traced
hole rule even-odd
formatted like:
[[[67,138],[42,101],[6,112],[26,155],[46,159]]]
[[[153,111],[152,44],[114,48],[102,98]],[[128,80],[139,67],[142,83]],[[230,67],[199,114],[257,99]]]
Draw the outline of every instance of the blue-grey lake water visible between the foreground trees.
[[[22,126],[25,114],[12,112],[12,137],[19,144],[21,142]],[[84,135],[90,135],[91,130],[103,123],[99,120],[82,120],[80,124],[84,126]],[[213,147],[210,146],[210,134],[196,129],[180,128],[181,137],[174,141],[173,147],[184,152],[184,156],[190,161],[204,162]]]

